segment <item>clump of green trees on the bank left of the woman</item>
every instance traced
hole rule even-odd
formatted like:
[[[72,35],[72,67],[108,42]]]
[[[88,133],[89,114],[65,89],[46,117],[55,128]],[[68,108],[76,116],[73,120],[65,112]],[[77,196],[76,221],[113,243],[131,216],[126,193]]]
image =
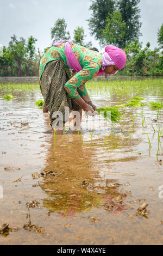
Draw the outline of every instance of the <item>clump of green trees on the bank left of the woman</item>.
[[[3,47],[0,56],[1,76],[36,76],[39,74],[39,56],[35,53],[36,39],[30,36],[28,42],[24,38],[11,36],[8,47]]]

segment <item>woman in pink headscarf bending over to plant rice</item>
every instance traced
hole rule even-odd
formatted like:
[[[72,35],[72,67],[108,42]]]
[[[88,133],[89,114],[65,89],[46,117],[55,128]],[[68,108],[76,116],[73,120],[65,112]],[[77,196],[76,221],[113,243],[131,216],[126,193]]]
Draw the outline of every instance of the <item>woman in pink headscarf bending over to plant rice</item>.
[[[58,113],[66,120],[65,107],[78,111],[80,117],[82,109],[89,113],[96,111],[85,83],[95,76],[114,75],[125,64],[125,52],[115,46],[106,46],[105,52],[99,53],[72,41],[56,42],[40,62],[40,88],[50,112],[51,126]]]

